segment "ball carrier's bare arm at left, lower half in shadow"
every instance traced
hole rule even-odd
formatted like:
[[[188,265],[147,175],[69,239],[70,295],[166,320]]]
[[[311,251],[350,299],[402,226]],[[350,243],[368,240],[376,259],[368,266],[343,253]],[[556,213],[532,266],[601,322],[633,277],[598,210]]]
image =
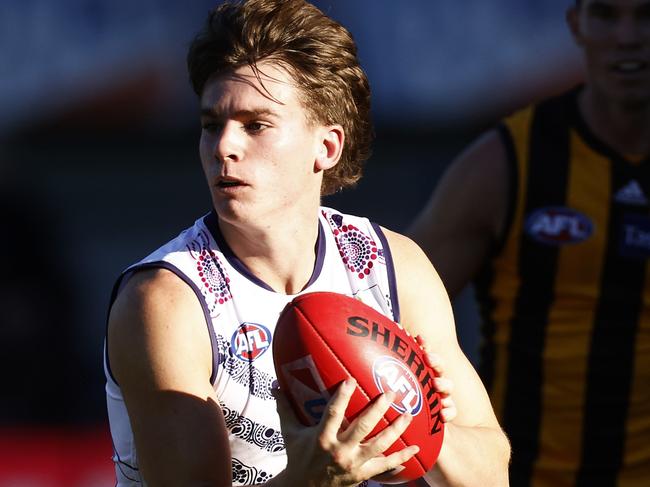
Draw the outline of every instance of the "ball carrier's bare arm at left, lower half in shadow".
[[[208,328],[189,286],[166,270],[136,273],[111,309],[108,352],[147,484],[230,486]]]

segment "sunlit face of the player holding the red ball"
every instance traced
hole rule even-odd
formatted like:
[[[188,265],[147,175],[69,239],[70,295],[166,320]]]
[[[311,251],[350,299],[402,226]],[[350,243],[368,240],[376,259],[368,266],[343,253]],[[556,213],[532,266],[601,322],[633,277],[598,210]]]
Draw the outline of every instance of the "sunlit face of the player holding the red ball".
[[[286,70],[258,67],[263,84],[246,66],[213,76],[201,96],[201,162],[214,208],[232,224],[270,225],[320,201],[324,129]]]

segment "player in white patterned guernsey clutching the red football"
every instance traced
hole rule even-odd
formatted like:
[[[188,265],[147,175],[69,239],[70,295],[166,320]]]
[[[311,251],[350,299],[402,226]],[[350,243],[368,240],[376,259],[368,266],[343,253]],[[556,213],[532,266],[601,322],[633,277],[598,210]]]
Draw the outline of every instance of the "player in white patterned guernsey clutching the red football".
[[[389,394],[343,424],[350,381],[317,427],[298,427],[281,396],[276,414],[275,322],[295,295],[323,290],[403,320],[439,355],[436,387],[455,419],[430,481],[507,485],[508,442],[424,253],[320,206],[360,178],[372,140],[349,32],[303,0],[226,2],[191,44],[188,68],[212,211],[116,285],[106,390],[118,485],[342,487],[411,458],[417,447],[382,455],[408,414],[364,440]]]

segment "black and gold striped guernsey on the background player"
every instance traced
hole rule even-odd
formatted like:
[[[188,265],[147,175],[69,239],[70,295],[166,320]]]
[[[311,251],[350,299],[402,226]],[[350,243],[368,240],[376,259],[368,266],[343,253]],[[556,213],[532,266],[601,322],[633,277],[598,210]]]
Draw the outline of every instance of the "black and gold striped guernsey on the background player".
[[[501,127],[511,211],[476,282],[481,377],[512,485],[650,485],[650,159],[590,132],[578,93]]]

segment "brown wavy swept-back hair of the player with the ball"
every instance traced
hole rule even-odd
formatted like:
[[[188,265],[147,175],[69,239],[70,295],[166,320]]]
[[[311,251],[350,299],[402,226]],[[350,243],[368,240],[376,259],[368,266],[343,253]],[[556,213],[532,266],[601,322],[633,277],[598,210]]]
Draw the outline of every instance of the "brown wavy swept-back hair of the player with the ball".
[[[227,1],[209,13],[190,45],[194,92],[201,96],[215,73],[248,65],[258,74],[263,59],[294,78],[310,121],[343,127],[341,159],[325,171],[321,194],[353,186],[370,157],[374,131],[370,85],[350,32],[304,0]]]

